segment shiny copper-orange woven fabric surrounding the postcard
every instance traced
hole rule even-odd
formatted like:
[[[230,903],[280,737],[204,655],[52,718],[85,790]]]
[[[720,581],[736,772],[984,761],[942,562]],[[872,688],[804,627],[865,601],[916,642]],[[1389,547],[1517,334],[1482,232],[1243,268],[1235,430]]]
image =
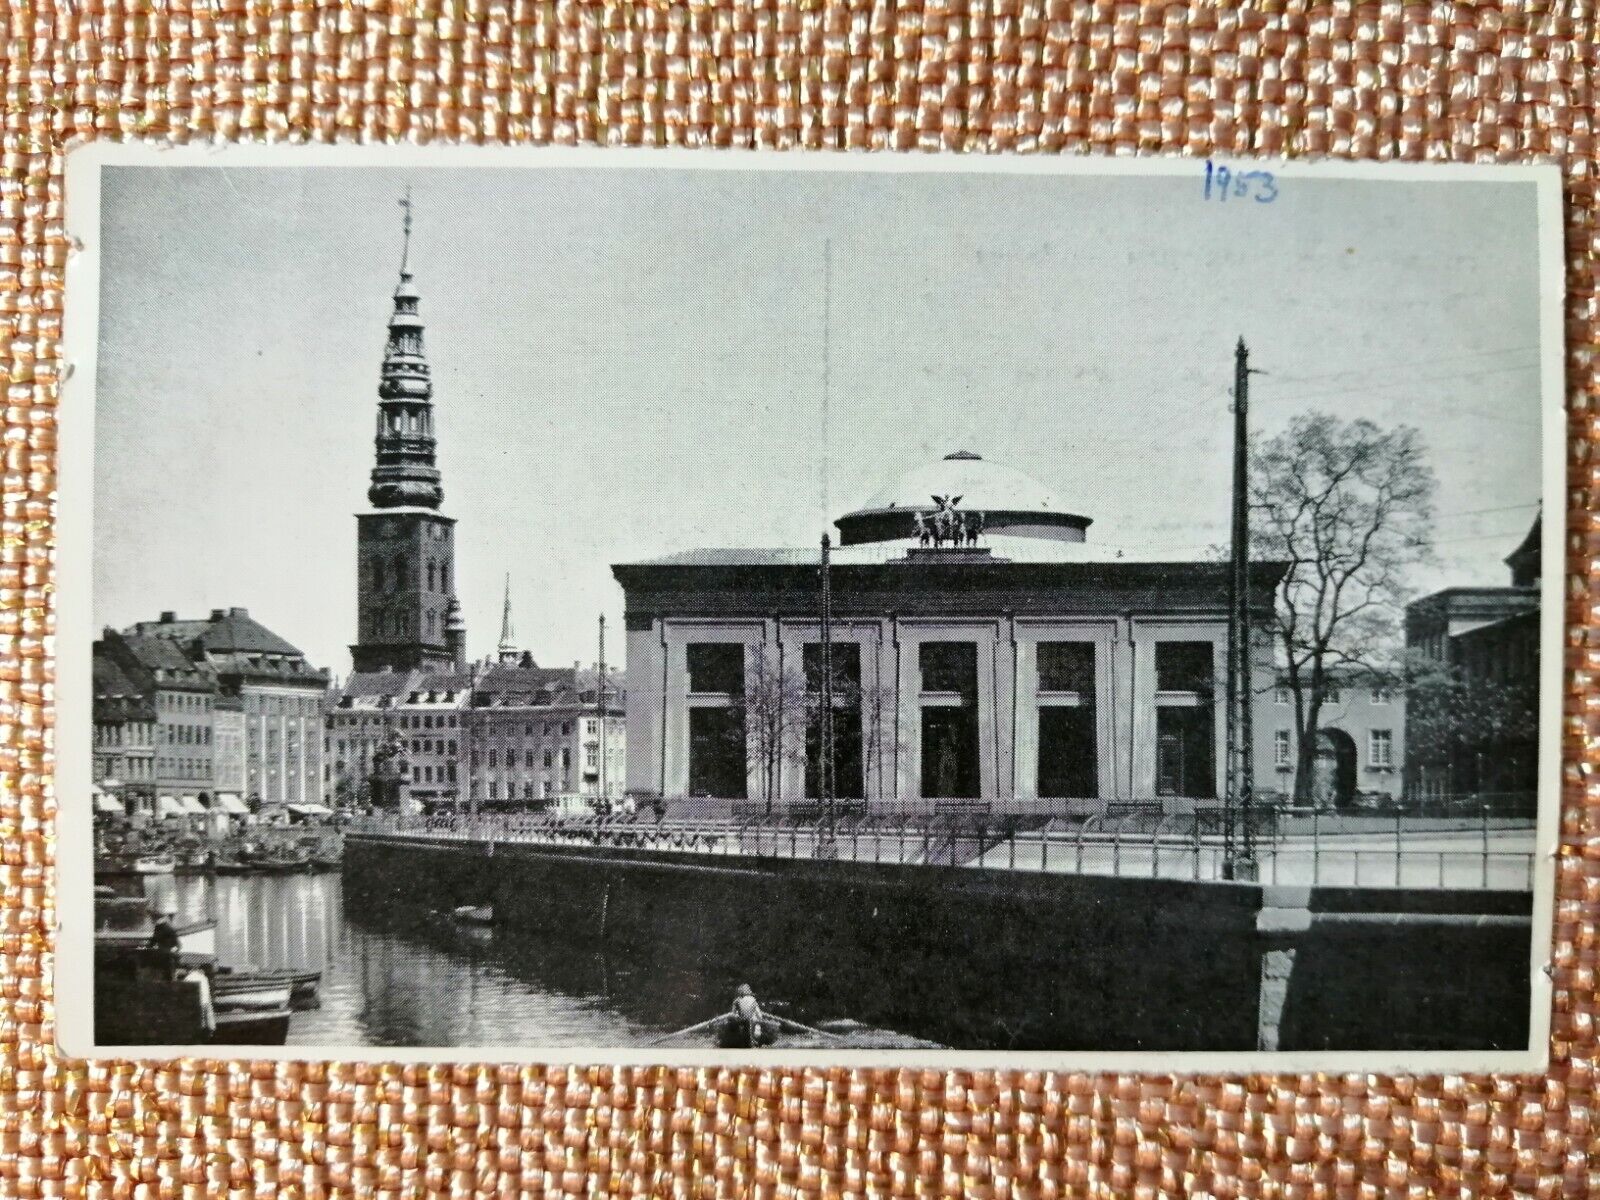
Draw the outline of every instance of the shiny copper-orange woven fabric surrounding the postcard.
[[[0,0],[0,1194],[1600,1195],[1595,5]],[[1563,851],[1544,1078],[67,1062],[53,1050],[62,150],[88,138],[1554,162]],[[1003,221],[1003,213],[995,213]],[[930,254],[938,246],[930,243]],[[1493,280],[1485,280],[1493,286]],[[85,754],[86,747],[62,747]]]

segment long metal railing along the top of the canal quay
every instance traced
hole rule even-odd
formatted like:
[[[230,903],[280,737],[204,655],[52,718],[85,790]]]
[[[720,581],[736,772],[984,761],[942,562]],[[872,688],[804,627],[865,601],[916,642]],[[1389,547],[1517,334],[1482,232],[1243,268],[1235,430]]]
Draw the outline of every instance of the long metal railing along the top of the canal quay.
[[[848,816],[829,827],[784,814],[656,819],[618,816],[370,816],[352,834],[496,845],[606,846],[698,856],[838,859],[987,870],[1226,880],[1358,888],[1533,886],[1533,822],[1496,816],[1262,813],[1254,872],[1230,862],[1222,816],[1149,808],[1083,819],[926,813]],[[1237,842],[1235,842],[1237,845]]]

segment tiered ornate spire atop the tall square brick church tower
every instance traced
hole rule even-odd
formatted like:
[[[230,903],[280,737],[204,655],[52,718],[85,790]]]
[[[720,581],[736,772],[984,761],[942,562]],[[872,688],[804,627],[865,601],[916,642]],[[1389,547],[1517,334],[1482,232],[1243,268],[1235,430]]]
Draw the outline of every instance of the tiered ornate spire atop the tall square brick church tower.
[[[419,294],[411,282],[411,192],[400,202],[400,283],[378,382],[378,462],[366,498],[374,509],[437,509],[445,499],[434,461],[434,381],[422,354]]]

